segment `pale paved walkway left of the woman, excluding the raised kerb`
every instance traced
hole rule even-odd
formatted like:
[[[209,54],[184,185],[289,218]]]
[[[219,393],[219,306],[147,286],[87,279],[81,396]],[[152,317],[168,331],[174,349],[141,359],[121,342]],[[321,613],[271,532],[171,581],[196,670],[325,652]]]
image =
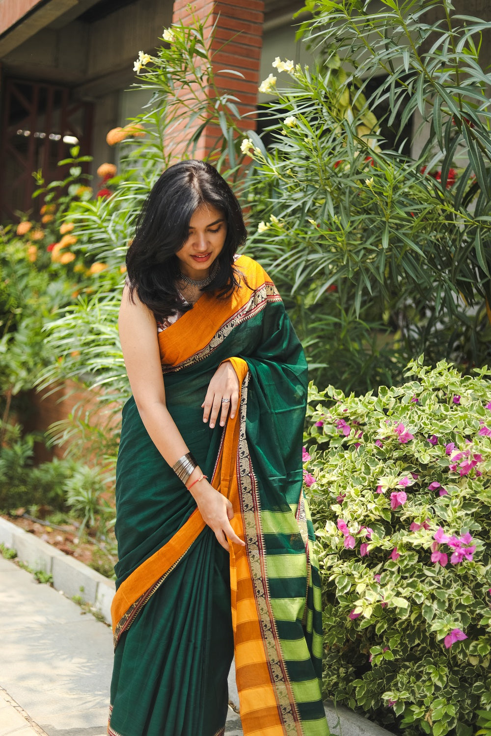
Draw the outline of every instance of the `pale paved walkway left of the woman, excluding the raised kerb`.
[[[105,736],[105,623],[0,556],[0,632],[0,736]],[[231,709],[227,726],[227,736],[242,733]]]

